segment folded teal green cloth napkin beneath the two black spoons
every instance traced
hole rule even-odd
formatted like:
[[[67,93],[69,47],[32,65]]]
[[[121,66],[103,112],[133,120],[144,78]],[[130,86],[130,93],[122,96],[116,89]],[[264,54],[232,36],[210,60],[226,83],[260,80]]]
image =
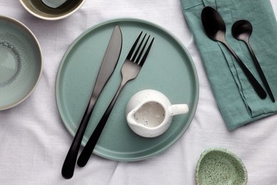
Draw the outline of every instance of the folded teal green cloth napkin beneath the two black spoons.
[[[269,0],[180,0],[183,14],[193,33],[202,57],[217,105],[228,129],[236,129],[277,111],[277,23]],[[232,24],[240,19],[251,22],[249,39],[266,75],[276,102],[269,96],[261,100],[227,48],[210,40],[202,26],[201,12],[205,6],[219,11],[226,23],[226,40],[251,73],[261,82],[246,45],[232,37]]]

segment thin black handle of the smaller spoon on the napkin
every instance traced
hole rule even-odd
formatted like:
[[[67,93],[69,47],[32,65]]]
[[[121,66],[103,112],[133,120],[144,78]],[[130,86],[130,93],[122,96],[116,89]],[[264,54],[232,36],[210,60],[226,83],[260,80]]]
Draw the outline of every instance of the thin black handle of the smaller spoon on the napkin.
[[[254,65],[255,65],[256,69],[258,70],[258,73],[259,73],[259,75],[261,77],[262,82],[264,83],[264,87],[266,88],[266,91],[267,91],[269,97],[271,97],[272,102],[275,102],[275,98],[274,98],[274,96],[273,96],[273,94],[271,92],[271,88],[268,85],[268,82],[266,80],[266,76],[264,75],[264,72],[261,69],[261,65],[259,64],[259,62],[258,62],[258,60],[257,60],[257,58],[256,58],[256,56],[254,54],[254,51],[252,50],[252,48],[251,48],[251,46],[249,44],[249,41],[247,41],[247,42],[244,41],[244,42],[246,43],[246,46],[247,46],[247,48],[249,49],[249,51],[251,53],[251,56],[252,56],[253,61],[254,61]]]

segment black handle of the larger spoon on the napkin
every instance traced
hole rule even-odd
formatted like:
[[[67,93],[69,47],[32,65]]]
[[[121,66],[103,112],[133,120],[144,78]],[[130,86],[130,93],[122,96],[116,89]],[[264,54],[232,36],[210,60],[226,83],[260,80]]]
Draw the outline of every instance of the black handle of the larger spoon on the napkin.
[[[237,56],[237,54],[234,53],[234,51],[228,45],[228,43],[226,41],[221,41],[221,42],[224,43],[224,45],[229,49],[229,51],[232,53],[234,58],[236,58],[237,62],[239,63],[239,66],[241,67],[241,70],[244,72],[244,75],[246,75],[246,78],[249,80],[249,83],[251,83],[251,85],[254,88],[254,90],[256,91],[257,95],[259,95],[259,97],[261,97],[261,99],[265,99],[266,91],[264,90],[264,88],[261,87],[259,82],[254,77],[254,75],[252,75],[250,70],[244,65],[244,63],[241,61],[239,56]]]

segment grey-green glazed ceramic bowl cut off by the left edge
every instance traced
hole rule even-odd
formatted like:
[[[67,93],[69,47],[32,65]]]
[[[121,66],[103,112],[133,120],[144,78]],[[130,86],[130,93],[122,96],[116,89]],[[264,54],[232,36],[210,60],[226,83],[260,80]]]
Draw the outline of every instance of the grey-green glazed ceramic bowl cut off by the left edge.
[[[22,23],[0,16],[0,110],[33,92],[42,73],[38,40]]]

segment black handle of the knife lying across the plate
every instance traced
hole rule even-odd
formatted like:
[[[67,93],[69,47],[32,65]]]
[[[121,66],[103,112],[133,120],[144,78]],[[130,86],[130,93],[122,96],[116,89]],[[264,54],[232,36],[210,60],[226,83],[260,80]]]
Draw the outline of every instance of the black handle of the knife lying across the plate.
[[[75,164],[77,161],[77,155],[80,149],[80,145],[82,143],[82,137],[85,134],[85,130],[87,128],[87,124],[89,122],[89,118],[92,115],[92,110],[94,109],[96,100],[92,98],[90,100],[89,105],[87,105],[87,109],[85,110],[85,114],[82,117],[82,121],[77,129],[75,137],[72,141],[70,149],[67,152],[67,156],[65,157],[65,162],[63,163],[62,175],[65,179],[71,179],[74,174]]]

